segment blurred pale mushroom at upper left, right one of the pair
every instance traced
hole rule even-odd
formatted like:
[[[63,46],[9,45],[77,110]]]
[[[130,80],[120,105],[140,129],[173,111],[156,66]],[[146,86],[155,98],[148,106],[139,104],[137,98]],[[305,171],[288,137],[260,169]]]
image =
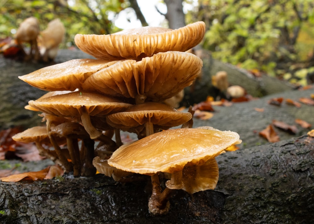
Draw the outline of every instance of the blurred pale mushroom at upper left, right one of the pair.
[[[39,45],[43,61],[52,61],[57,56],[59,44],[64,38],[64,25],[60,19],[50,21],[47,28],[40,32]]]

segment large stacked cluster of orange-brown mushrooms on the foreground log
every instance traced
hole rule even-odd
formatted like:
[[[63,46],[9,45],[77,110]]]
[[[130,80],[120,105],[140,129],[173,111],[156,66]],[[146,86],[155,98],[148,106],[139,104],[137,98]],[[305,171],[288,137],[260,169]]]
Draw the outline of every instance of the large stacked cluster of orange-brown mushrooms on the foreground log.
[[[150,175],[152,214],[168,211],[175,189],[191,194],[214,189],[214,157],[240,143],[239,135],[192,128],[191,110],[164,104],[201,72],[202,60],[185,51],[204,33],[205,24],[196,22],[175,30],[142,27],[76,35],[78,48],[97,59],[71,60],[19,77],[50,92],[27,106],[42,112],[46,128],[28,129],[14,140],[33,136],[43,156],[75,176],[94,175],[95,169],[116,181]],[[138,140],[123,144],[121,130],[136,133]],[[164,190],[161,173],[169,177]]]

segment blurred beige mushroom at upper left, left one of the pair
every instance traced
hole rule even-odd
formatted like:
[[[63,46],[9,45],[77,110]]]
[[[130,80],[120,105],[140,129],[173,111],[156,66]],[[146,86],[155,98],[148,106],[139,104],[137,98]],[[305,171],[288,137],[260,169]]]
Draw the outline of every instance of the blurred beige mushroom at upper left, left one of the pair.
[[[22,43],[27,42],[30,44],[29,59],[38,60],[40,53],[37,45],[37,36],[39,34],[39,22],[35,17],[29,17],[25,19],[16,31],[16,42],[20,45],[20,48],[26,55]],[[33,52],[34,51],[34,52]]]

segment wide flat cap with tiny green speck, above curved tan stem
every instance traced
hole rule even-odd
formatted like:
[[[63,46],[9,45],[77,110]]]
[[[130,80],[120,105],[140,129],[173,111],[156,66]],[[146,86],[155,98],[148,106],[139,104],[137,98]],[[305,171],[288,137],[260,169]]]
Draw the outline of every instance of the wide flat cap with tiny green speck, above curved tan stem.
[[[123,103],[113,97],[104,96],[99,93],[71,92],[30,100],[30,106],[42,112],[62,117],[81,116],[82,109],[89,115],[104,116],[124,110],[131,104]]]

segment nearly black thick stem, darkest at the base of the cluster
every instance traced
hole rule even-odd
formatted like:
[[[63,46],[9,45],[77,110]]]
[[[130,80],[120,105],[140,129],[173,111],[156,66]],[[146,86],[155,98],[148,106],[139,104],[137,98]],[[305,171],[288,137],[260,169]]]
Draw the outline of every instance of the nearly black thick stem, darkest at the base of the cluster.
[[[81,148],[81,176],[88,177],[96,174],[96,168],[93,166],[94,153],[94,140],[83,139]]]

